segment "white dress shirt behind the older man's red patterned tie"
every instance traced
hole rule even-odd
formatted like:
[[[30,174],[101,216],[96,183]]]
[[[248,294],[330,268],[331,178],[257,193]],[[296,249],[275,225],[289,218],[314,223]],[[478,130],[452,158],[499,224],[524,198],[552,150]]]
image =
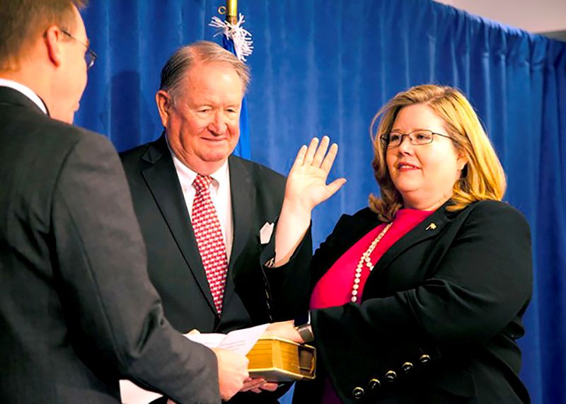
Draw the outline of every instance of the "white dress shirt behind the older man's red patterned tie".
[[[167,144],[169,146],[169,144]],[[185,204],[187,205],[187,210],[192,221],[192,202],[195,200],[195,195],[197,190],[192,185],[197,178],[197,173],[192,171],[190,168],[181,163],[181,161],[175,156],[171,147],[171,156],[173,156],[173,164],[175,165],[175,171],[177,171],[177,176],[181,184],[181,190],[183,190],[183,197],[185,197]],[[212,204],[216,208],[216,214],[220,221],[220,228],[222,230],[222,236],[224,236],[224,245],[226,246],[226,258],[230,262],[230,254],[232,251],[233,243],[233,216],[232,216],[232,200],[230,197],[230,171],[228,167],[228,160],[222,164],[222,166],[216,170],[216,172],[210,175],[212,177],[212,184],[210,185],[210,197],[212,199]]]

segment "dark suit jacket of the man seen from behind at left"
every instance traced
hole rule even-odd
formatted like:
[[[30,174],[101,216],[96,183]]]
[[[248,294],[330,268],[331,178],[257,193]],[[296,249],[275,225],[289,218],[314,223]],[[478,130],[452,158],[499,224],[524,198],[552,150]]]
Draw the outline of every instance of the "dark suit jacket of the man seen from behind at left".
[[[0,87],[0,178],[0,401],[118,403],[127,377],[219,402],[214,354],[163,316],[108,139]]]

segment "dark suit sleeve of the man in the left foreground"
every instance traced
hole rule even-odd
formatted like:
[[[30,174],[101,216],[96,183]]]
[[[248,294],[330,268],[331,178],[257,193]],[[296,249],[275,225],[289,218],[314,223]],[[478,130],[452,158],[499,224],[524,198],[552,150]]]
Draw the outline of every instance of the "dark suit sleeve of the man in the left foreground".
[[[52,208],[59,299],[74,349],[92,369],[180,403],[219,402],[214,353],[163,317],[127,190],[110,142],[81,134],[59,173]]]

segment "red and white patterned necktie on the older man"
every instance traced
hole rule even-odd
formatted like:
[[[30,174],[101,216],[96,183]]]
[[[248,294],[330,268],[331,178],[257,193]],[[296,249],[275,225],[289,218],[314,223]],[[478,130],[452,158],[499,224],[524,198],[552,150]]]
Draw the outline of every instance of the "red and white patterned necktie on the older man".
[[[192,229],[195,231],[200,258],[204,271],[207,273],[214,306],[220,314],[222,312],[222,299],[224,299],[228,260],[220,221],[210,198],[210,183],[212,183],[212,178],[200,174],[192,183],[197,190],[195,200],[192,202]]]

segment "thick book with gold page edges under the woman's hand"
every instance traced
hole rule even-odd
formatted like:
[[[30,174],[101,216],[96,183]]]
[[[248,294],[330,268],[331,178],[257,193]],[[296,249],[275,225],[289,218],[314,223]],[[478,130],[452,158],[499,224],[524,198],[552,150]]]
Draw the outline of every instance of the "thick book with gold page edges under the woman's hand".
[[[316,348],[279,337],[261,338],[248,352],[250,377],[267,381],[315,378]]]

